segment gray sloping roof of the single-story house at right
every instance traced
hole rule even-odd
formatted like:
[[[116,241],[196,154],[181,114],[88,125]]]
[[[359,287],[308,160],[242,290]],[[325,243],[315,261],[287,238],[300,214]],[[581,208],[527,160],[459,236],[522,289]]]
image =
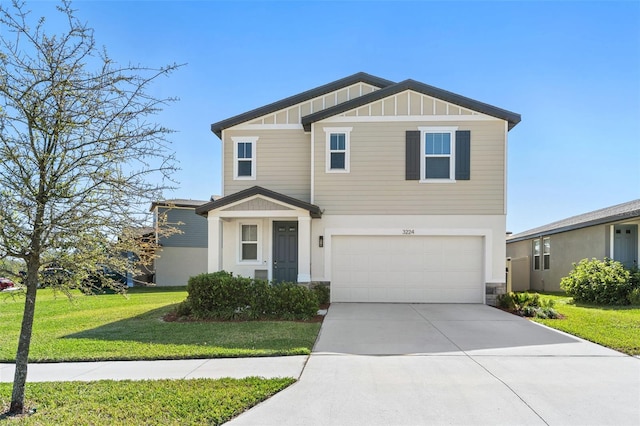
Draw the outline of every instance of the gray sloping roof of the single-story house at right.
[[[567,219],[558,220],[544,226],[520,232],[507,238],[507,243],[515,243],[517,241],[527,240],[530,238],[559,234],[561,232],[573,231],[574,229],[602,225],[605,223],[620,222],[637,217],[640,217],[640,199],[572,216]]]

